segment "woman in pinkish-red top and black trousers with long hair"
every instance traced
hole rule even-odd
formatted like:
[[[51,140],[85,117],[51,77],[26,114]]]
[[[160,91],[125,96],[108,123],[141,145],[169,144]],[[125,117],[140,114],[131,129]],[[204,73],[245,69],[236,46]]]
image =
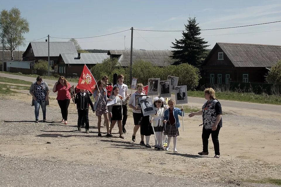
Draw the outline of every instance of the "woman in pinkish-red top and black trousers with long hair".
[[[71,85],[67,80],[60,76],[58,82],[54,85],[53,92],[58,92],[56,100],[58,100],[59,107],[61,108],[61,122],[67,124],[68,106],[70,103],[70,87]]]

